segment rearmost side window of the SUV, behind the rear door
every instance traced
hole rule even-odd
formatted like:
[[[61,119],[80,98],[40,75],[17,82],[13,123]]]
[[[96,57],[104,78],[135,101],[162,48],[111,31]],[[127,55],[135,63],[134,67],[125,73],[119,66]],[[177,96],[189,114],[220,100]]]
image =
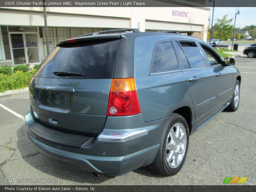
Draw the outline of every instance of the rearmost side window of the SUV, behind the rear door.
[[[160,43],[156,47],[151,73],[179,70],[178,61],[171,42]]]

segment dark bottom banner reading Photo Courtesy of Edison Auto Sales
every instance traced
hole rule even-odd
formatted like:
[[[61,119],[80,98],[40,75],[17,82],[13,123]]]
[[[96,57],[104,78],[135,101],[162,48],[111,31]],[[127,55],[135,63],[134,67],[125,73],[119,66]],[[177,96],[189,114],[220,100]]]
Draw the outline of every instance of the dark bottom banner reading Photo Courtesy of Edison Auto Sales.
[[[129,186],[129,185],[120,185],[120,186],[109,186],[109,185],[100,185],[100,186],[68,186],[68,185],[45,185],[45,186],[35,186],[35,185],[2,185],[0,186],[1,192],[120,192],[120,191],[127,191],[127,192],[196,192],[196,191],[202,191],[202,192],[216,192],[216,191],[225,191],[225,192],[251,192],[256,191],[256,186],[244,186],[240,184],[234,184],[234,185],[218,185],[218,186],[204,186],[204,185],[196,185],[196,186]]]

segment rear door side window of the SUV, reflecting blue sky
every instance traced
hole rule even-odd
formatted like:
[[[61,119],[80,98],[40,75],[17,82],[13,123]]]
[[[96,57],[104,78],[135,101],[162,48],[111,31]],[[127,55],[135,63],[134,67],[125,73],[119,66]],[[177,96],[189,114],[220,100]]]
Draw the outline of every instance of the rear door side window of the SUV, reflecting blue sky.
[[[205,68],[204,57],[194,42],[182,42],[180,44],[188,57],[191,68]]]

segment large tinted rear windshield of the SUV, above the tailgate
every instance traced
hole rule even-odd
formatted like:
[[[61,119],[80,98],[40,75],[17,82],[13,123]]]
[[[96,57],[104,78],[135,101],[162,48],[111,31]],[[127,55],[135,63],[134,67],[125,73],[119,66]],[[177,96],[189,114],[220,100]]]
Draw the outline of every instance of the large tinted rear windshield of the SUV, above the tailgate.
[[[97,40],[56,47],[37,70],[36,77],[72,79],[110,79],[120,40]],[[53,72],[84,76],[57,76]]]

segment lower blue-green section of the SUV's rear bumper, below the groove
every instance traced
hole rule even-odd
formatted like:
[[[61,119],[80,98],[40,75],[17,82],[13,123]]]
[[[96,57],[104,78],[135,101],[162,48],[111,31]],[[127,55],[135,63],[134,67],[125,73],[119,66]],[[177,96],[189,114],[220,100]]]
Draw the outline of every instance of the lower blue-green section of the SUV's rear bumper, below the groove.
[[[41,153],[70,167],[104,175],[117,176],[150,164],[158,151],[159,144],[126,156],[90,156],[64,151],[48,146],[28,133],[33,146]]]

